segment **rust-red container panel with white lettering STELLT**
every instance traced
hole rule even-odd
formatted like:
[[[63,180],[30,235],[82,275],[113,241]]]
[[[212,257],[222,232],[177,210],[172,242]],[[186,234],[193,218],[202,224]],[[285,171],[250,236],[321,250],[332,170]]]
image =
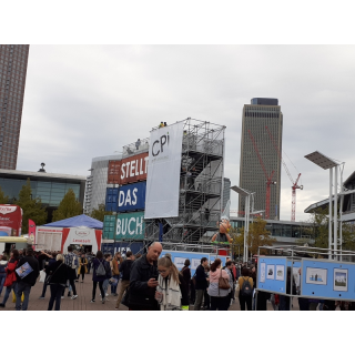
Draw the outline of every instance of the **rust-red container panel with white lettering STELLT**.
[[[110,161],[108,183],[125,185],[146,180],[148,153],[128,156],[120,161]]]

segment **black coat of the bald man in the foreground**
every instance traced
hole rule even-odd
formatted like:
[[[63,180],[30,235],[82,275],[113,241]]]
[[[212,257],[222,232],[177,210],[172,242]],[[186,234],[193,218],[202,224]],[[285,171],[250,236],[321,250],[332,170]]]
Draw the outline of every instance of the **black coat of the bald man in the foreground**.
[[[149,287],[150,278],[158,280],[158,263],[151,265],[146,254],[138,258],[131,268],[128,303],[132,310],[158,310],[155,301],[155,287]]]

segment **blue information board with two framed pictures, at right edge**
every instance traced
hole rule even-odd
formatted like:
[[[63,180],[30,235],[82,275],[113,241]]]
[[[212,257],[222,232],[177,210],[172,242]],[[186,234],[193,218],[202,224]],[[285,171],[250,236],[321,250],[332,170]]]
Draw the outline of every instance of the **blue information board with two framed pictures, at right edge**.
[[[311,298],[355,300],[355,264],[302,260],[301,295]]]

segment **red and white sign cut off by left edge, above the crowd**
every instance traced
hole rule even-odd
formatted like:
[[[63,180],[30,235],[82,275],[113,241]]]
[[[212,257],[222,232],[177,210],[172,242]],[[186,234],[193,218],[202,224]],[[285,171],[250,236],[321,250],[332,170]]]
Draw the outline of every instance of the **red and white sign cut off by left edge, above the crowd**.
[[[22,210],[14,204],[0,204],[0,236],[20,236]]]

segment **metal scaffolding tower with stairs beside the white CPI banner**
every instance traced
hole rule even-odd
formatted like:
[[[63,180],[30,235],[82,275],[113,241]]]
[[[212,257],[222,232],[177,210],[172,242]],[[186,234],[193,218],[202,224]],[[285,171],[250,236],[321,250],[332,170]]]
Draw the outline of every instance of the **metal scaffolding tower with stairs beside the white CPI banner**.
[[[206,121],[183,121],[179,216],[144,220],[144,240],[164,242],[164,248],[206,251],[219,232],[224,174],[224,125]],[[156,128],[155,128],[156,129]],[[149,144],[149,143],[148,143]],[[211,245],[211,244],[210,244]]]

